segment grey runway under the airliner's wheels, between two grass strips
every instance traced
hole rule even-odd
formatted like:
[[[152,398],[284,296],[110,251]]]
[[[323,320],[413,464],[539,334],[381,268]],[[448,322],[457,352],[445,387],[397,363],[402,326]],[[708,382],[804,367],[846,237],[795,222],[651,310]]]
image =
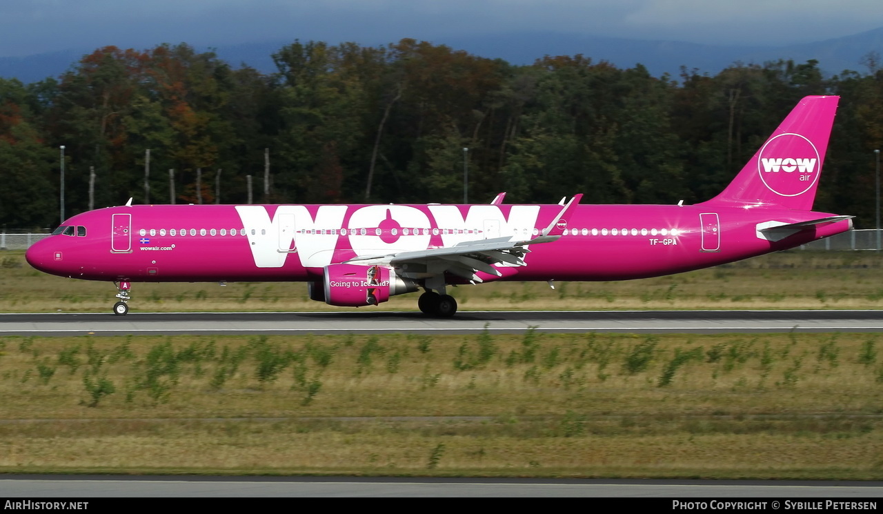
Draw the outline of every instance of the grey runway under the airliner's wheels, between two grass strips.
[[[877,332],[883,311],[461,311],[419,312],[0,314],[0,336],[125,334],[389,333],[752,333]]]

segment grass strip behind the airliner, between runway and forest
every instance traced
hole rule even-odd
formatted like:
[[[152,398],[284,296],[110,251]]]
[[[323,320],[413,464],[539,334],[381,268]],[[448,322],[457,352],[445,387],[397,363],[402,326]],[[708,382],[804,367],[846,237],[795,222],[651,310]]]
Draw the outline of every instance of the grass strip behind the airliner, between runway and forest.
[[[4,251],[0,312],[110,312],[112,283],[49,276]],[[602,283],[483,283],[449,288],[461,310],[877,309],[875,252],[772,253],[674,276]],[[418,294],[372,310],[417,310]],[[303,283],[134,283],[132,312],[341,310],[307,298]],[[361,309],[362,311],[365,308]]]

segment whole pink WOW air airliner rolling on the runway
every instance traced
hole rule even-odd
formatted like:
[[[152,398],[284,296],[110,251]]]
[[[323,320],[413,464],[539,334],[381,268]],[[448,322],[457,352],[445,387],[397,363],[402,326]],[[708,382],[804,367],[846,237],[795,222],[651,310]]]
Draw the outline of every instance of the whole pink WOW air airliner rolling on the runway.
[[[133,282],[306,282],[332,306],[423,290],[447,317],[452,284],[603,281],[738,261],[833,236],[851,217],[811,210],[837,96],[807,96],[712,200],[695,205],[132,205],[74,215],[31,246],[46,273]]]

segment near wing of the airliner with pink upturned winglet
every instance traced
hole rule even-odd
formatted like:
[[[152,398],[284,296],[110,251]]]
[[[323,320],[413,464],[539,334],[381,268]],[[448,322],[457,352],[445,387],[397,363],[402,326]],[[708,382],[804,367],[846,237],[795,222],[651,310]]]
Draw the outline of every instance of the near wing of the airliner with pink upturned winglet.
[[[494,265],[525,266],[525,255],[530,253],[527,246],[551,243],[561,238],[567,227],[567,222],[576,211],[582,196],[582,194],[575,195],[558,215],[552,218],[552,223],[549,223],[535,238],[516,239],[515,236],[509,236],[508,238],[478,239],[443,248],[357,257],[347,262],[389,264],[400,269],[401,276],[415,279],[450,273],[472,283],[484,282],[484,279],[478,275],[479,272],[491,277],[502,276],[500,270],[494,268]]]

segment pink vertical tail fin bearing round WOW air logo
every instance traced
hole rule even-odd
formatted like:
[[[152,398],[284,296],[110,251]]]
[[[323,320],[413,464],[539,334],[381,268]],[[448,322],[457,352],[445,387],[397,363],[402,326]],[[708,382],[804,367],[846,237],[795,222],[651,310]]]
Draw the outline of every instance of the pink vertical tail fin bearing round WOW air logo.
[[[726,189],[704,203],[811,210],[839,96],[807,96]]]

